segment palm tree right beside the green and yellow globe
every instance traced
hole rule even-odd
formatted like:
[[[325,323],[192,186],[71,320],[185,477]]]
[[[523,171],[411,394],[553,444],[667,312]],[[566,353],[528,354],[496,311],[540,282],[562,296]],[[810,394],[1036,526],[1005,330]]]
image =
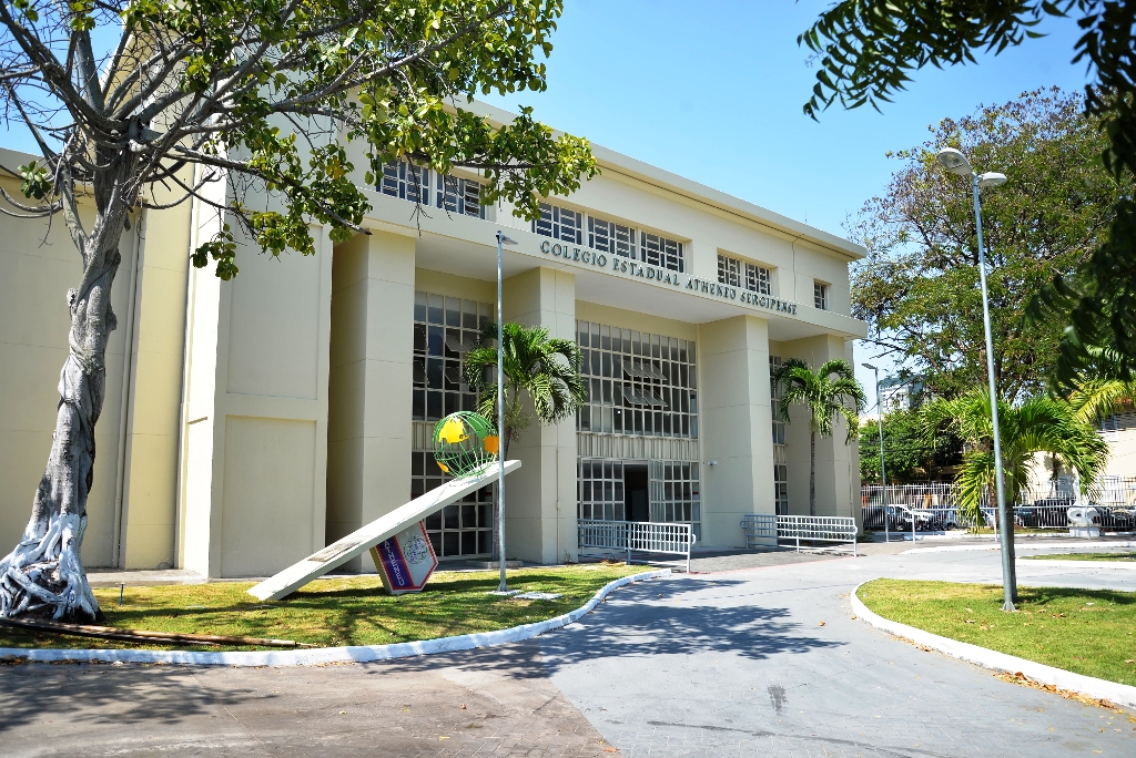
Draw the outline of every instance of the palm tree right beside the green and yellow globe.
[[[498,326],[482,326],[477,345],[466,353],[466,380],[477,393],[477,411],[496,422],[496,343]],[[509,445],[532,423],[552,424],[576,413],[587,402],[587,381],[579,376],[579,346],[571,339],[550,338],[544,327],[526,328],[507,322],[501,327],[504,363],[504,430],[501,433],[502,460],[509,460]],[[526,410],[525,401],[533,413]],[[498,508],[493,508],[493,559],[498,555]]]

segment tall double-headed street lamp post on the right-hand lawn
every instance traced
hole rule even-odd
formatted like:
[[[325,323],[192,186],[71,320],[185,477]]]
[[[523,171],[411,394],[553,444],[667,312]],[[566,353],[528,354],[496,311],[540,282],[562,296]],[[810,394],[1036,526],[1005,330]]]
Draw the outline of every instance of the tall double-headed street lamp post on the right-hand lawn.
[[[978,201],[978,191],[982,187],[996,187],[1005,183],[1005,175],[994,171],[978,174],[970,166],[970,161],[961,151],[954,148],[945,148],[938,152],[938,162],[947,171],[959,176],[970,177],[970,187],[975,197],[975,226],[978,231],[978,279],[983,292],[983,329],[986,331],[986,379],[991,391],[991,423],[994,424],[994,489],[997,492],[997,516],[1001,525],[1002,545],[1002,609],[1013,610],[1013,600],[1017,596],[1018,580],[1013,565],[1013,524],[1010,520],[1010,511],[1005,504],[1005,483],[1002,473],[1002,440],[997,421],[997,386],[994,382],[994,340],[991,338],[991,306],[989,295],[986,289],[986,253],[983,250],[983,209]]]

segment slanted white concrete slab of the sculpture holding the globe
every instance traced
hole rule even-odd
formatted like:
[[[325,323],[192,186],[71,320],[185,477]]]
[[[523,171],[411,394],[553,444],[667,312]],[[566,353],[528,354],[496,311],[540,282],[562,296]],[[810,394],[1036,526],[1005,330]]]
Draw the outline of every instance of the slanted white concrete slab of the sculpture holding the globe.
[[[510,474],[519,468],[520,461],[504,462],[506,474]],[[402,532],[414,523],[437,513],[451,503],[457,503],[466,495],[475,492],[486,485],[492,485],[496,475],[498,464],[493,462],[485,464],[473,475],[452,479],[386,515],[379,516],[366,527],[354,530],[274,576],[269,576],[250,589],[249,595],[258,600],[279,600],[287,597],[311,580],[367,553],[374,546]]]

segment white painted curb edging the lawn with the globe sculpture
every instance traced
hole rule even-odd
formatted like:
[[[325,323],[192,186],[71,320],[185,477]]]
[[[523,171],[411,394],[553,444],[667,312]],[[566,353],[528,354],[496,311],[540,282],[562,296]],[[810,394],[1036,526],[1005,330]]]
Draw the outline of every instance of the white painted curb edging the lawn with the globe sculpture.
[[[623,576],[600,588],[586,604],[566,614],[538,621],[533,624],[501,629],[479,634],[443,637],[418,642],[393,645],[354,645],[341,648],[309,648],[302,650],[258,650],[234,652],[198,652],[189,650],[62,650],[43,648],[0,648],[0,660],[24,659],[40,663],[165,663],[194,664],[204,666],[309,666],[327,663],[367,663],[391,660],[409,656],[426,656],[435,652],[457,652],[475,648],[488,648],[509,642],[527,640],[544,632],[567,626],[593,610],[612,590],[641,582],[646,579],[669,576],[670,568],[645,571]]]

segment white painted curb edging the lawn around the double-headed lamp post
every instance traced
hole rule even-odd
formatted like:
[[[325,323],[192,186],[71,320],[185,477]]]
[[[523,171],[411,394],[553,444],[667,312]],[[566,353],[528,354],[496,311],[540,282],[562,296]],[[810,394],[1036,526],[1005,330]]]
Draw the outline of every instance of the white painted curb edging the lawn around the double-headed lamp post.
[[[1136,687],[1118,684],[1117,682],[1109,682],[1095,676],[1075,674],[1071,671],[1054,668],[1053,666],[997,652],[996,650],[970,645],[969,642],[959,642],[958,640],[925,632],[914,626],[901,624],[897,621],[884,618],[879,614],[869,610],[868,606],[858,597],[860,588],[866,583],[857,584],[857,588],[852,590],[850,597],[852,600],[852,612],[876,629],[907,638],[917,645],[938,650],[952,658],[966,660],[983,668],[993,668],[994,671],[1009,674],[1021,673],[1042,684],[1053,684],[1061,690],[1072,690],[1074,692],[1087,694],[1091,698],[1100,698],[1120,706],[1136,708]]]

